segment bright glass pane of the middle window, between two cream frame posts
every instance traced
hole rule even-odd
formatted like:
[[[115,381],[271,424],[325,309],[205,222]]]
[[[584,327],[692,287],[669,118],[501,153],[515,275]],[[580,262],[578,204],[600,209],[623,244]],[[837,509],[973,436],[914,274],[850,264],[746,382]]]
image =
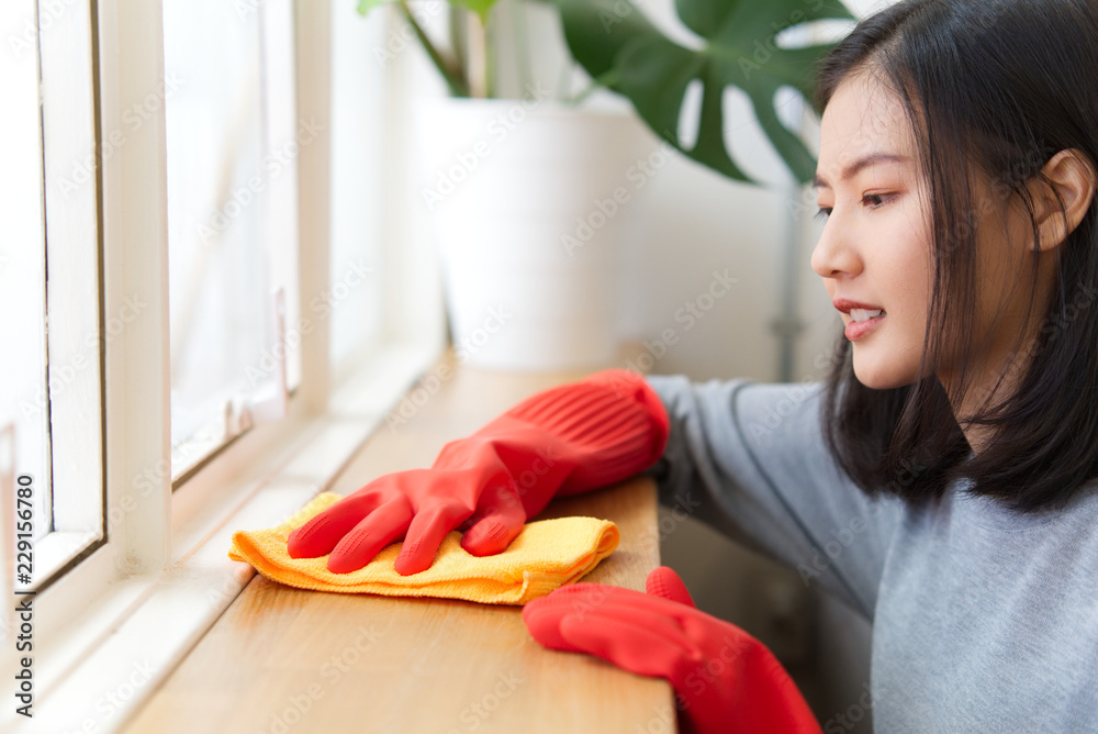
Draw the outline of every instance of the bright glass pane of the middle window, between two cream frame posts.
[[[164,3],[172,477],[300,379],[290,3]],[[277,296],[281,291],[281,297]],[[281,298],[281,301],[279,301]],[[276,415],[277,418],[277,415]]]

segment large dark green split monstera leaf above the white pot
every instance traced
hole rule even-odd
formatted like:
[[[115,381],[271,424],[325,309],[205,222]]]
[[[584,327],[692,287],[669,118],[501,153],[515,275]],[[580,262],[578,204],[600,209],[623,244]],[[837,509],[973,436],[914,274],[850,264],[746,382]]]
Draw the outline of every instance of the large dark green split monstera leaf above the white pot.
[[[853,20],[838,0],[675,0],[679,18],[698,36],[697,48],[669,41],[630,0],[549,0],[560,10],[572,56],[595,80],[627,97],[660,137],[694,160],[733,179],[754,182],[725,145],[724,90],[742,89],[763,131],[800,182],[816,162],[781,123],[775,94],[793,87],[811,100],[813,69],[832,44],[780,47],[782,31],[819,20]],[[679,118],[687,85],[702,84],[697,137],[686,148]]]

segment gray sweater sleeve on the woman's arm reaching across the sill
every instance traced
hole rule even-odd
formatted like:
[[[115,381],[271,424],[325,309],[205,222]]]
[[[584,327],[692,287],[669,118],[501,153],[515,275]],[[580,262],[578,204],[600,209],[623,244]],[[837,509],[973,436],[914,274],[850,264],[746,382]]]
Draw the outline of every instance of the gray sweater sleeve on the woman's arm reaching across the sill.
[[[671,419],[651,472],[672,516],[708,523],[872,620],[903,508],[871,499],[836,465],[820,429],[822,386],[648,382]]]

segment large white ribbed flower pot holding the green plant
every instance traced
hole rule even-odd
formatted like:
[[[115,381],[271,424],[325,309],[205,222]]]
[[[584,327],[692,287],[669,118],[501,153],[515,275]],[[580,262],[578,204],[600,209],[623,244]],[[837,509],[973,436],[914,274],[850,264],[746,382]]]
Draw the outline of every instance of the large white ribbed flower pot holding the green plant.
[[[520,371],[610,363],[642,123],[535,98],[425,99],[418,113],[417,190],[458,359]]]

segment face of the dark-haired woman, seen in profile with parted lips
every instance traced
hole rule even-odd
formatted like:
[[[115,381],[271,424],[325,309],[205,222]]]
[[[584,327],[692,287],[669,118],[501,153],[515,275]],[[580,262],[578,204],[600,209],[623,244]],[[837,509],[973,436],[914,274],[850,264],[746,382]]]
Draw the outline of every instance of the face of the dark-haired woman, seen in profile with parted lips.
[[[870,75],[851,75],[828,102],[816,188],[827,224],[813,269],[842,312],[854,375],[870,388],[909,385],[933,281],[930,213],[903,103]]]

